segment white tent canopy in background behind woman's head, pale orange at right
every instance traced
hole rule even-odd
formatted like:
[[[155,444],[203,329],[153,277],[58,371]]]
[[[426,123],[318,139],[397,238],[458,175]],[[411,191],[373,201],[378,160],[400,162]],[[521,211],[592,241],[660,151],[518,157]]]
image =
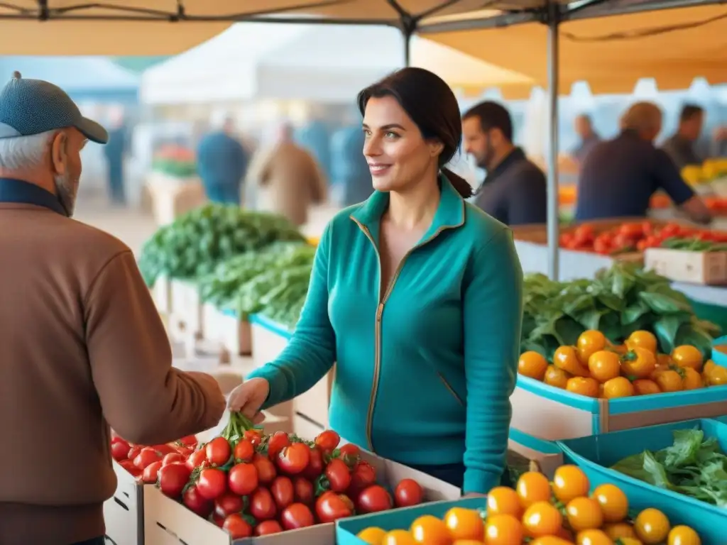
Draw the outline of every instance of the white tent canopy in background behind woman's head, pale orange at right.
[[[534,81],[425,39],[413,64],[463,89],[502,87],[527,97]],[[147,70],[141,100],[181,104],[252,99],[353,103],[356,93],[403,65],[401,33],[362,25],[239,23]]]

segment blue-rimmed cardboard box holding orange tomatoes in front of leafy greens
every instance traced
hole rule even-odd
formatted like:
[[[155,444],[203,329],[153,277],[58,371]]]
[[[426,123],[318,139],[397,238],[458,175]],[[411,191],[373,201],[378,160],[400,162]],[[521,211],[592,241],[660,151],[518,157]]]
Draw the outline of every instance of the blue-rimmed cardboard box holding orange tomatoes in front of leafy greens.
[[[723,416],[727,388],[594,399],[518,375],[510,396],[510,427],[546,440],[573,439],[619,429]]]

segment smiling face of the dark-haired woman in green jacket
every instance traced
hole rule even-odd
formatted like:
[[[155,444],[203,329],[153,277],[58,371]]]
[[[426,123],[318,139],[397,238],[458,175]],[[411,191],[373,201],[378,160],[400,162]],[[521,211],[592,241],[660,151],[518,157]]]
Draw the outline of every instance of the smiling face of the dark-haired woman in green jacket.
[[[437,171],[443,146],[424,140],[394,97],[369,100],[364,137],[364,157],[376,190],[401,192]]]

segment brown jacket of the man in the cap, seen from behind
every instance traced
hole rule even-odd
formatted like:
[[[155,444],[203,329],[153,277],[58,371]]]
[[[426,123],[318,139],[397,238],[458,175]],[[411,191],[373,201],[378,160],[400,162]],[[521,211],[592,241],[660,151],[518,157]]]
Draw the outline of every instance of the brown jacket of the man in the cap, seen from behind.
[[[0,203],[0,545],[104,533],[109,424],[135,443],[201,432],[225,410],[172,352],[132,252],[55,211]]]

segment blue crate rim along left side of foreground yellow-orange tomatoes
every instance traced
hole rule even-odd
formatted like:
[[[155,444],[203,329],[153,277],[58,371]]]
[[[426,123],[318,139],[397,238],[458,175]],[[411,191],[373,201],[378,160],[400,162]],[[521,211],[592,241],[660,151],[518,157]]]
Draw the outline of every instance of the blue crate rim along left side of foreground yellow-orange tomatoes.
[[[425,514],[442,518],[452,507],[467,509],[485,509],[486,498],[467,498],[457,501],[435,501],[431,504],[418,505],[406,509],[394,509],[383,513],[364,514],[361,517],[339,520],[336,523],[337,545],[366,545],[356,535],[366,528],[382,528],[390,530],[409,530],[411,523]]]

